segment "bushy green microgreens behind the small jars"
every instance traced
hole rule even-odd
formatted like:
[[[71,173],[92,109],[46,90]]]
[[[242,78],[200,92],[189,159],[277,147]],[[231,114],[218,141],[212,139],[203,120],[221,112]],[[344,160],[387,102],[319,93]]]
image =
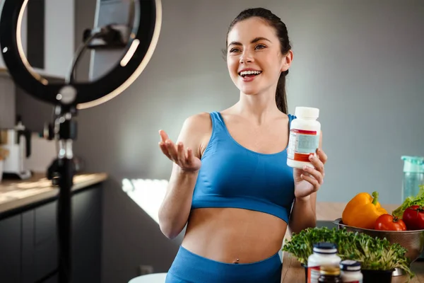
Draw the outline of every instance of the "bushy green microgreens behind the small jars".
[[[363,270],[393,270],[397,267],[410,277],[414,276],[409,268],[410,262],[405,257],[407,250],[399,243],[391,244],[386,238],[373,238],[345,228],[308,228],[293,233],[291,240],[284,244],[283,251],[291,253],[307,265],[307,258],[313,253],[313,244],[319,242],[335,243],[341,260],[357,260],[361,262]]]

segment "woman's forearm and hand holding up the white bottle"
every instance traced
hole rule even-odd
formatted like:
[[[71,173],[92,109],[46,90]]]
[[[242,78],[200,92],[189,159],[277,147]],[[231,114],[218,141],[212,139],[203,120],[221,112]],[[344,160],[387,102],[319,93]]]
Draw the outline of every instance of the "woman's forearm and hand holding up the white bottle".
[[[293,169],[295,202],[288,224],[291,233],[299,233],[303,229],[315,227],[317,224],[315,209],[317,191],[324,182],[324,164],[327,161],[327,156],[322,150],[322,132],[319,135],[317,156],[311,154],[310,161],[314,168]]]

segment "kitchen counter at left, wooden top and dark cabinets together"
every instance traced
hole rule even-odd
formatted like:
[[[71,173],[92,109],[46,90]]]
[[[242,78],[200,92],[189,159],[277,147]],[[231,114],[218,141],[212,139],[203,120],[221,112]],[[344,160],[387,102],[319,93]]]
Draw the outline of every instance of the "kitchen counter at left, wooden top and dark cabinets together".
[[[100,282],[104,173],[73,178],[71,245],[73,282]],[[0,282],[59,282],[58,195],[44,173],[0,183]],[[79,247],[79,248],[78,248]],[[90,272],[87,272],[90,270]],[[6,281],[5,281],[6,280]]]

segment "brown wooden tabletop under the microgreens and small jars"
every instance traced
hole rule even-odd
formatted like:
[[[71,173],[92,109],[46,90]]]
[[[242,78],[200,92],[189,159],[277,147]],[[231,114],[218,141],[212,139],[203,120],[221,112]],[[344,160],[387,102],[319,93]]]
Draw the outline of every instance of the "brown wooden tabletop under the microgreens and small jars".
[[[411,269],[416,276],[410,279],[410,283],[424,282],[424,262],[413,262]],[[391,278],[392,283],[408,282],[406,275]],[[290,253],[283,252],[283,272],[281,283],[305,283],[305,268]]]

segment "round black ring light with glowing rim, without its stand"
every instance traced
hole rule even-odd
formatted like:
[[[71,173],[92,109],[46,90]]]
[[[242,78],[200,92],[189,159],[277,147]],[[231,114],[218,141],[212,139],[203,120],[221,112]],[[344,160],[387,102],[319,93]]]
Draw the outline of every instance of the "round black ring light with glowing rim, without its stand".
[[[104,103],[122,93],[141,74],[150,61],[160,34],[162,8],[160,0],[134,1],[135,15],[128,51],[116,66],[100,79],[88,83],[73,83],[78,109]],[[57,94],[63,83],[50,83],[35,73],[23,52],[20,27],[28,0],[4,0],[0,18],[0,45],[4,62],[13,80],[30,95],[47,103],[57,104]],[[84,95],[79,96],[78,93]]]

